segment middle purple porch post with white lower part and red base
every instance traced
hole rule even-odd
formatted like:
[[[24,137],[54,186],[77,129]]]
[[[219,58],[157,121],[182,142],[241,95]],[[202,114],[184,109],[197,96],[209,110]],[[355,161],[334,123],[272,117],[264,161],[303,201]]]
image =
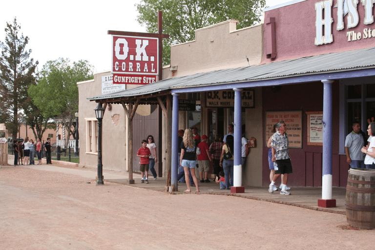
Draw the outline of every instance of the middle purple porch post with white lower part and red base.
[[[245,188],[242,186],[242,154],[241,154],[241,138],[242,138],[242,118],[241,118],[241,88],[233,88],[234,90],[234,148],[233,148],[233,187],[230,188],[231,193],[244,193]]]

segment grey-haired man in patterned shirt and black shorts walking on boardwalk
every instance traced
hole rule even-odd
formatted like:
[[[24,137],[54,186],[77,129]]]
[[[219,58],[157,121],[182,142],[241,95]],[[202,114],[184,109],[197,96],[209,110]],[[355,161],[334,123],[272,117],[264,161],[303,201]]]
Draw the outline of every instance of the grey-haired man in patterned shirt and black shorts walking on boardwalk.
[[[289,141],[287,131],[287,125],[284,121],[276,124],[278,131],[272,135],[271,150],[272,150],[272,162],[277,163],[278,169],[275,170],[272,182],[269,187],[270,193],[273,193],[273,185],[281,174],[284,175],[283,183],[281,184],[281,192],[283,195],[290,195],[291,193],[286,190],[288,182],[288,174],[292,171],[291,155],[289,154]]]

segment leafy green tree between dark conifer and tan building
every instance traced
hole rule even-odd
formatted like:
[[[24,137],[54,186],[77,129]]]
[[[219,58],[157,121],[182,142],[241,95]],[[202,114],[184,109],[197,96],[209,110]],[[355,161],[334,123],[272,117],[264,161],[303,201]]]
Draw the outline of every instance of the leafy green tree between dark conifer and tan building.
[[[44,117],[60,118],[68,135],[75,134],[75,112],[78,111],[77,82],[93,79],[94,67],[86,60],[70,62],[59,58],[43,65],[37,84],[29,87],[32,102],[41,110]]]

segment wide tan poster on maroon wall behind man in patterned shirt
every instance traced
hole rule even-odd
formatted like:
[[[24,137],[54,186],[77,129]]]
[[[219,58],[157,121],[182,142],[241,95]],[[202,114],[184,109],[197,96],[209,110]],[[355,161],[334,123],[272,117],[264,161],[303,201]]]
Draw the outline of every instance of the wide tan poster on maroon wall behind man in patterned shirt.
[[[302,110],[266,112],[265,145],[273,134],[273,125],[280,121],[284,121],[287,125],[289,147],[302,148]]]

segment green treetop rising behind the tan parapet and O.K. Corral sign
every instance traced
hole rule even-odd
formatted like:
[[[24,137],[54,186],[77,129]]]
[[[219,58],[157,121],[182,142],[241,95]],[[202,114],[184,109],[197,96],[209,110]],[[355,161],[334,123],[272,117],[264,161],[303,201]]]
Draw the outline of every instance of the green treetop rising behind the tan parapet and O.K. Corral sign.
[[[170,63],[170,45],[193,41],[195,29],[229,19],[238,20],[237,28],[249,27],[260,21],[265,0],[141,0],[137,21],[149,33],[156,33],[157,12],[163,11],[163,64]]]

